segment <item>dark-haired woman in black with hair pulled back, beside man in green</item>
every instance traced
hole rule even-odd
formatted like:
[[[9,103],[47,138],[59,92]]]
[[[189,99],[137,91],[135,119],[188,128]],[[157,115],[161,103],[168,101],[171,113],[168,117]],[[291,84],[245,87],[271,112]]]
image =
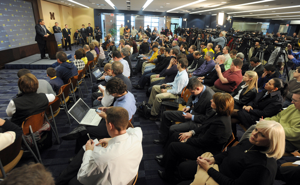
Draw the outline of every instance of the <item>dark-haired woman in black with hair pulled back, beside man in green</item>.
[[[255,121],[259,121],[259,118],[276,115],[282,108],[287,92],[288,83],[280,78],[269,80],[252,102],[237,111],[238,120],[246,128],[249,128],[255,125]]]

